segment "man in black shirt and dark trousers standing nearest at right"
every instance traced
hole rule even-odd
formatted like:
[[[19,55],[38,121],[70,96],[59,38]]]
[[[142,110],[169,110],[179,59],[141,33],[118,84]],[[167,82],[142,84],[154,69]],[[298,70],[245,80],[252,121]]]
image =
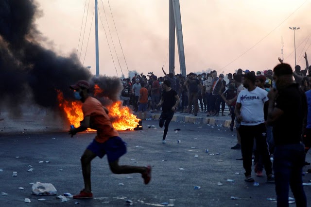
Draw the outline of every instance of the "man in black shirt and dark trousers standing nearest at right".
[[[273,126],[275,142],[273,170],[277,206],[289,206],[288,192],[291,186],[296,206],[306,207],[307,199],[302,185],[305,149],[301,143],[303,121],[307,114],[306,95],[299,83],[293,81],[289,64],[276,65],[273,79],[275,87],[268,94],[267,123]]]

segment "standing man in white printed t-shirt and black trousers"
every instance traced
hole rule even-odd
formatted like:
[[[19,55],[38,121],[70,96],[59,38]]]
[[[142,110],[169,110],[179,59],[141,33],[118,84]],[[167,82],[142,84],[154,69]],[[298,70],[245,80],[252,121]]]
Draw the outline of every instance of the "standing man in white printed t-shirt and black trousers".
[[[272,163],[267,145],[267,132],[264,124],[263,105],[268,101],[268,92],[256,87],[256,76],[254,73],[244,75],[244,87],[238,95],[235,114],[237,122],[241,123],[239,132],[241,135],[241,149],[243,168],[245,169],[245,182],[254,182],[251,177],[252,154],[254,138],[257,150],[262,156],[262,161],[267,175],[267,181],[274,181],[272,174]]]

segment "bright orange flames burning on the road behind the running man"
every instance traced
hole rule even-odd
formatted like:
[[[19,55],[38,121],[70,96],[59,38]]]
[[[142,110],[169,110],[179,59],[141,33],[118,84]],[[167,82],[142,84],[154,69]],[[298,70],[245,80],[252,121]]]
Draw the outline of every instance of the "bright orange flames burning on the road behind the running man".
[[[97,86],[98,87],[98,86]],[[100,89],[98,87],[98,89]],[[95,87],[96,91],[96,87]],[[99,93],[102,91],[97,90]],[[68,101],[64,99],[63,93],[57,90],[59,107],[65,111],[69,122],[74,127],[80,126],[80,121],[83,120],[82,103],[80,101]],[[95,92],[94,92],[95,94]],[[139,119],[131,113],[128,107],[123,107],[121,101],[114,102],[107,107],[112,122],[112,126],[116,130],[134,130],[138,126]],[[92,129],[87,129],[92,130]]]

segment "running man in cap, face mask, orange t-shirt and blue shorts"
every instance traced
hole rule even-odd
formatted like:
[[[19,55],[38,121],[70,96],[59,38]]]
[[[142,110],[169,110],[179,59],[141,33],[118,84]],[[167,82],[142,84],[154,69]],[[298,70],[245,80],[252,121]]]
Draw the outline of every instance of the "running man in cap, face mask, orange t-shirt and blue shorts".
[[[85,188],[74,199],[93,198],[91,189],[91,161],[95,157],[103,158],[107,154],[109,167],[114,174],[140,173],[144,183],[148,184],[151,179],[151,166],[139,167],[119,165],[119,159],[126,153],[126,143],[119,137],[119,133],[112,126],[108,117],[108,110],[96,99],[88,95],[90,88],[86,80],[79,80],[70,86],[74,96],[82,101],[83,120],[78,128],[70,128],[71,137],[87,128],[97,130],[97,135],[90,143],[81,157],[82,173]]]

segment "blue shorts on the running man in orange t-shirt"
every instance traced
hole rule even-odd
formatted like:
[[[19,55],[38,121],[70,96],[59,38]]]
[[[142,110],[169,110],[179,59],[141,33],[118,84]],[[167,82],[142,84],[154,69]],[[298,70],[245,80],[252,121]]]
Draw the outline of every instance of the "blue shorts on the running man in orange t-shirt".
[[[126,153],[126,143],[120,137],[110,137],[104,143],[99,143],[94,139],[87,149],[100,158],[107,154],[108,162],[114,162]]]

